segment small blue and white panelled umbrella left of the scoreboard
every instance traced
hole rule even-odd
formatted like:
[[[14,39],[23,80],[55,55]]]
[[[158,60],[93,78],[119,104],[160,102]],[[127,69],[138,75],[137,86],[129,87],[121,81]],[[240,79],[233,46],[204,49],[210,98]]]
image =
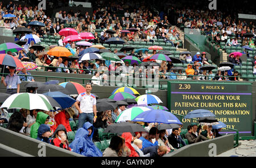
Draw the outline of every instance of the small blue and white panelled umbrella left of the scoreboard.
[[[138,105],[149,105],[149,104],[159,104],[163,103],[159,97],[153,95],[153,94],[143,94],[141,96],[138,96],[135,98]]]

